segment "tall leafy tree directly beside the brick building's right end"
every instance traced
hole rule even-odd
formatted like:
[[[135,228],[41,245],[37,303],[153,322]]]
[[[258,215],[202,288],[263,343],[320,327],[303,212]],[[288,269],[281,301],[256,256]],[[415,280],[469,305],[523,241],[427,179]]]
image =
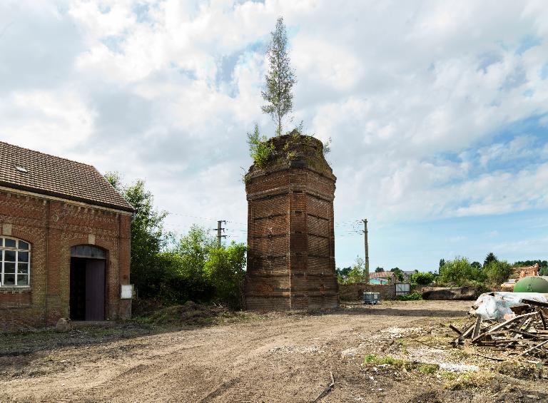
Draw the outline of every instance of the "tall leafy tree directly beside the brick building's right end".
[[[146,190],[143,180],[123,185],[117,172],[108,172],[105,178],[136,210],[131,223],[131,281],[140,297],[156,295],[162,277],[158,254],[169,238],[163,230],[163,220],[168,213],[154,208],[153,195]]]

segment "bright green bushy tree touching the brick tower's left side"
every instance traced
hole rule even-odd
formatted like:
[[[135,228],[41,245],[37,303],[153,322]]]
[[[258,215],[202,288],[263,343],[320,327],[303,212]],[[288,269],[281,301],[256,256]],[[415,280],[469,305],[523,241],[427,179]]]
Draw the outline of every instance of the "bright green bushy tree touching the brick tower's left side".
[[[233,309],[245,306],[245,250],[243,243],[233,242],[227,248],[210,250],[209,259],[205,262],[205,276],[215,288],[214,300]]]

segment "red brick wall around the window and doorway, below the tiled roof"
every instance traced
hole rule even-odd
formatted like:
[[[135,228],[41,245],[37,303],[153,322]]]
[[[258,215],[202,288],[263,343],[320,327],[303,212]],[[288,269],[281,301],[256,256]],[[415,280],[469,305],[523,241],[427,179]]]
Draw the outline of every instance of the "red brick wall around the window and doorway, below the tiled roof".
[[[119,299],[129,284],[131,215],[106,208],[0,191],[1,235],[31,245],[29,287],[0,287],[0,330],[52,325],[69,317],[70,250],[93,244],[106,250],[106,318],[131,316]]]

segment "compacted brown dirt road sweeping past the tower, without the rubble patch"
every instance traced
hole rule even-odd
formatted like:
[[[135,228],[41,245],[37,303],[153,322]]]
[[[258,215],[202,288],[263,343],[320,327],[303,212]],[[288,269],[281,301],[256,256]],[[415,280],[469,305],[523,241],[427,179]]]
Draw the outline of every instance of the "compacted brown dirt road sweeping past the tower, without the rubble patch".
[[[335,386],[322,402],[495,401],[465,390],[440,392],[432,377],[362,366],[366,354],[392,348],[395,333],[440,328],[469,305],[392,302],[325,315],[268,315],[0,357],[0,401],[313,402],[330,384],[330,372]]]

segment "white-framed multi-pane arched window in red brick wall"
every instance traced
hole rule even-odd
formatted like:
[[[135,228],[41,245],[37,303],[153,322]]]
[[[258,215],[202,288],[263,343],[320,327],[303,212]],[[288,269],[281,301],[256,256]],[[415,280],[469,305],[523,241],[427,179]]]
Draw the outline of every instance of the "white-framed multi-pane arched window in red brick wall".
[[[24,240],[2,237],[0,250],[0,287],[28,287],[31,275],[31,245]]]

